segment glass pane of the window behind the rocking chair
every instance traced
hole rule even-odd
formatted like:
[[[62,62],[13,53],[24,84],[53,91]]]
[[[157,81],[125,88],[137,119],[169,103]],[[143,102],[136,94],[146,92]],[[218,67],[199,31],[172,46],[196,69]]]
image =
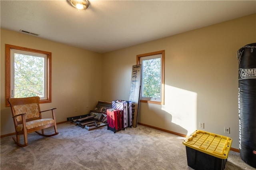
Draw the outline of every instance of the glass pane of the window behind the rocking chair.
[[[45,97],[45,59],[14,53],[14,97]]]

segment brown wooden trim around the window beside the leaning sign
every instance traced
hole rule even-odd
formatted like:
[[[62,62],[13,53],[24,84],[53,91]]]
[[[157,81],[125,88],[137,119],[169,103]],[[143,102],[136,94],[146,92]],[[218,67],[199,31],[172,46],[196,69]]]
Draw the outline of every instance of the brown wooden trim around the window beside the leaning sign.
[[[161,91],[161,101],[149,101],[149,100],[140,100],[140,102],[142,103],[153,103],[153,104],[158,104],[158,105],[164,105],[164,53],[165,50],[161,50],[161,51],[156,51],[156,52],[151,52],[151,53],[145,53],[145,54],[140,54],[137,55],[137,64],[140,64],[140,58],[141,57],[146,57],[146,56],[150,56],[150,55],[157,55],[157,54],[162,54],[162,91]]]

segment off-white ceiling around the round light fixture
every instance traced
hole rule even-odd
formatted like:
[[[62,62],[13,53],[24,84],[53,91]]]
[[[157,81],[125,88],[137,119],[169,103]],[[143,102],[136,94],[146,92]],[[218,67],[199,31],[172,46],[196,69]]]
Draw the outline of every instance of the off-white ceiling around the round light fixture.
[[[104,53],[254,13],[256,0],[1,0],[0,26]]]

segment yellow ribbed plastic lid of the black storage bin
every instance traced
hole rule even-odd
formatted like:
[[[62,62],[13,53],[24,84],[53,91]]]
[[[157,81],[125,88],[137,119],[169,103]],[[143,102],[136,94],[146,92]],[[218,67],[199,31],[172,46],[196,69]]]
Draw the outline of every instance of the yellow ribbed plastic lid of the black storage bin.
[[[185,146],[215,156],[227,159],[232,138],[203,130],[196,130],[182,142]]]

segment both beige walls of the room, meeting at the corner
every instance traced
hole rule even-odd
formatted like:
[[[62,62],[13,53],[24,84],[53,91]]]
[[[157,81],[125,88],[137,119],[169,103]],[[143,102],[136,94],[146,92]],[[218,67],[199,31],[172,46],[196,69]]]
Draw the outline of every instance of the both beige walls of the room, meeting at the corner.
[[[104,54],[1,29],[1,135],[14,132],[4,103],[6,43],[52,52],[52,103],[41,107],[57,107],[57,122],[98,100],[128,100],[136,55],[165,50],[165,105],[141,103],[138,122],[181,134],[201,122],[202,130],[230,136],[238,148],[236,51],[256,42],[255,21],[256,14]]]

